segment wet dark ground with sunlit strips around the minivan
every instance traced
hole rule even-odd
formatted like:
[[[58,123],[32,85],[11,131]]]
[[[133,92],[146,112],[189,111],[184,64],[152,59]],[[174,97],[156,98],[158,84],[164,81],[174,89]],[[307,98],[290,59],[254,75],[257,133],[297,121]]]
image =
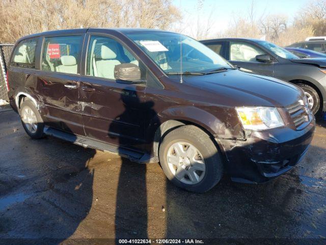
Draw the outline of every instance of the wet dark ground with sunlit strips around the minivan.
[[[158,164],[30,139],[19,116],[0,109],[0,243],[168,237],[326,244],[326,124],[318,124],[307,155],[285,175],[260,185],[225,177],[196,194],[169,183]]]

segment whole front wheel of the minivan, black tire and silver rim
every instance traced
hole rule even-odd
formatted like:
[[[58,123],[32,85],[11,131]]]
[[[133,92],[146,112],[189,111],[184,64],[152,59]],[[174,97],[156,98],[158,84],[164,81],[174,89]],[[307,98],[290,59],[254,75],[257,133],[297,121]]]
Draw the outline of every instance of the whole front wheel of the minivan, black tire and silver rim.
[[[180,157],[182,154],[178,155],[177,151],[188,156]],[[223,163],[218,149],[204,131],[192,125],[179,127],[162,139],[159,160],[168,179],[188,191],[206,192],[219,183],[223,176]]]

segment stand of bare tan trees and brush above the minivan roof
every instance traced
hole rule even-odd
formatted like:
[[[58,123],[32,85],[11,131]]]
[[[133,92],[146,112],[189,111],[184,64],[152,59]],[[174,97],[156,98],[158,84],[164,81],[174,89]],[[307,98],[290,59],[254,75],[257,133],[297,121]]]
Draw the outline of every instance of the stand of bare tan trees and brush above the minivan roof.
[[[0,7],[1,42],[80,27],[167,29],[180,19],[171,0],[2,0]]]

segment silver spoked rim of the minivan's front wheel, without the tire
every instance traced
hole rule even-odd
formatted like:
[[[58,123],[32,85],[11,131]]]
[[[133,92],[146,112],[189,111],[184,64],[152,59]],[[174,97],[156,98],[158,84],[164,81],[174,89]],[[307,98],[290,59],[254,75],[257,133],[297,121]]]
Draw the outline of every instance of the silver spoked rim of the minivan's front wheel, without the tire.
[[[180,141],[172,144],[168,150],[167,162],[171,173],[184,184],[197,184],[205,176],[203,155],[191,143]]]

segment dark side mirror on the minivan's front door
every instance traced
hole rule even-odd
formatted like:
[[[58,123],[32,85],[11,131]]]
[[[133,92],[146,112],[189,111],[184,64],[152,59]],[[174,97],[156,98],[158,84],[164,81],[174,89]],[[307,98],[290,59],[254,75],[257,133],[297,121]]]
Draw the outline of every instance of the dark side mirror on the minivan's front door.
[[[122,63],[114,67],[116,80],[123,80],[128,83],[141,83],[141,70],[132,63]]]

